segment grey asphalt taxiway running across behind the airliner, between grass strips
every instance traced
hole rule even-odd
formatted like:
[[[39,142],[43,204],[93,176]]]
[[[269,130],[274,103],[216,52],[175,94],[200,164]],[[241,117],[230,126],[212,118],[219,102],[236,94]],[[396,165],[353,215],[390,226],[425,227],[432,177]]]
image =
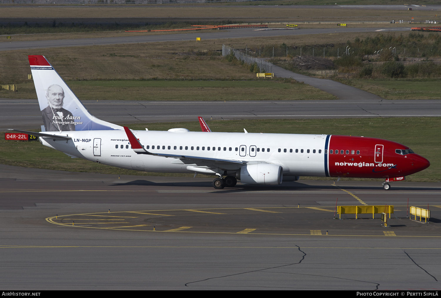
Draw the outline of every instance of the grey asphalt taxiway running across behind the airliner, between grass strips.
[[[210,119],[439,117],[440,100],[371,101],[82,101],[99,119],[117,124]],[[0,99],[0,130],[39,129],[37,100]],[[148,127],[148,124],[146,124]]]

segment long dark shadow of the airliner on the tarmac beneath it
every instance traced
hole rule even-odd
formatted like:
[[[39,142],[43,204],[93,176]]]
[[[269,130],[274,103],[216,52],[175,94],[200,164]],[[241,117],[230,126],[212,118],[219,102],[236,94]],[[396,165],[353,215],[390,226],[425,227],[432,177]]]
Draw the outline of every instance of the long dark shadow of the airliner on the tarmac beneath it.
[[[326,183],[326,182],[324,182]],[[156,183],[149,180],[133,180],[125,183],[113,183],[110,186],[127,186],[127,185],[145,185],[145,186],[177,186],[177,187],[213,187],[209,181],[195,181],[195,182],[161,182]],[[337,185],[338,186],[338,185]],[[339,186],[346,190],[381,190],[381,184],[378,186]],[[308,185],[299,182],[285,182],[282,185],[265,186],[265,185],[243,185],[238,184],[232,188],[224,188],[222,190],[213,190],[220,193],[252,191],[252,190],[335,190],[333,185]],[[400,187],[393,186],[392,190],[441,190],[441,187]],[[385,190],[385,192],[387,192]]]

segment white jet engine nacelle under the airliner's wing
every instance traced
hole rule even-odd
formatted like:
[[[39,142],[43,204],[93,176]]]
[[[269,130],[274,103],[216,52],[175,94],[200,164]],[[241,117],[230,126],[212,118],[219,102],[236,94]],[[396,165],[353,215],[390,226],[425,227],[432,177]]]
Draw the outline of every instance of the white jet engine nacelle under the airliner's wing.
[[[251,164],[240,168],[243,184],[277,185],[282,183],[282,167],[276,164]]]

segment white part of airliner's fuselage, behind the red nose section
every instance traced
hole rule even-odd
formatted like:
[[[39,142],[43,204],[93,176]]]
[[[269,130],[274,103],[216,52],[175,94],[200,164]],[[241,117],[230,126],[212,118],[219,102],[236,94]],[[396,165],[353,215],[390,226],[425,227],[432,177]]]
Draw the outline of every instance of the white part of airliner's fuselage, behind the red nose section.
[[[326,135],[155,130],[134,130],[133,133],[151,153],[243,161],[243,164],[217,166],[224,171],[237,171],[245,164],[265,162],[280,165],[284,175],[325,176]],[[72,139],[54,141],[40,137],[41,143],[101,164],[151,172],[216,174],[216,171],[208,169],[213,168],[213,162],[195,164],[194,160],[137,154],[131,149],[124,130],[69,131],[56,134],[67,135]]]

